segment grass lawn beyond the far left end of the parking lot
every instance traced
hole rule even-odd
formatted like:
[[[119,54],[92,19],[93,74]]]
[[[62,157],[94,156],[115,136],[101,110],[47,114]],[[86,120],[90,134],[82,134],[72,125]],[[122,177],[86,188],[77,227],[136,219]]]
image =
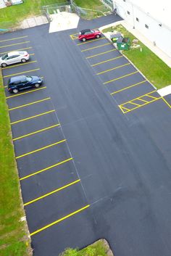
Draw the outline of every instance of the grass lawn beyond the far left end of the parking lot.
[[[41,7],[65,0],[24,0],[23,4],[0,9],[0,28],[14,28],[25,17],[41,15]]]

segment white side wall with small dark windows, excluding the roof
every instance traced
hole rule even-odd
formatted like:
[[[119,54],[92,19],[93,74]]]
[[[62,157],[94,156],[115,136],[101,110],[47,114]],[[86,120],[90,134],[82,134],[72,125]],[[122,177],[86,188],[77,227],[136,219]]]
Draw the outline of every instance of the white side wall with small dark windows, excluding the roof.
[[[171,57],[171,28],[162,24],[157,17],[151,17],[148,13],[148,7],[145,12],[128,0],[113,2],[117,8],[118,15]],[[147,28],[146,25],[148,26]]]

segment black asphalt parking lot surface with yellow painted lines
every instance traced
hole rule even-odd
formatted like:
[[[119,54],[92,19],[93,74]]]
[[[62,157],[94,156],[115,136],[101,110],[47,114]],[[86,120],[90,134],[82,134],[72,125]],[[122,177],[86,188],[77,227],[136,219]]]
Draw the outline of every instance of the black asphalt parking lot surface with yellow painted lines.
[[[3,69],[5,86],[18,73],[44,79],[14,97],[5,88],[35,256],[100,238],[115,256],[170,256],[170,96],[162,99],[104,36],[84,44],[70,37],[114,20],[0,37],[0,54],[32,54],[30,64]]]

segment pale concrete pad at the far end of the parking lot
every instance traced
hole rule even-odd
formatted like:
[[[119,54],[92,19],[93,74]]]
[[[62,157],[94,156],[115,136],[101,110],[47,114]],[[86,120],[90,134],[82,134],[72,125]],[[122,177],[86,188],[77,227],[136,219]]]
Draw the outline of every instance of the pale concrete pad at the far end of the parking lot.
[[[51,15],[52,21],[50,22],[49,33],[77,28],[79,19],[78,15],[70,12]]]

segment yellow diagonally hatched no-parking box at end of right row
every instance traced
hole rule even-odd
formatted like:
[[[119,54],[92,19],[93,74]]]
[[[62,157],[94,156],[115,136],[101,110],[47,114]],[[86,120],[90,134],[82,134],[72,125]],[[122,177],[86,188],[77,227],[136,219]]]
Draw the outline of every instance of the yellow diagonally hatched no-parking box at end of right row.
[[[156,102],[157,100],[159,99],[162,99],[162,96],[151,96],[151,94],[153,93],[156,93],[157,91],[151,91],[149,92],[148,94],[143,94],[142,96],[139,96],[135,99],[131,99],[129,102],[125,102],[125,103],[122,103],[120,104],[118,107],[120,107],[120,110],[125,114],[127,112],[130,112],[130,111],[133,111],[133,110],[136,110],[138,109],[139,107],[143,107],[147,104],[150,104],[152,102]],[[145,99],[143,99],[143,97]],[[150,100],[147,100],[147,98],[149,98]],[[142,104],[138,104],[137,102],[135,101],[138,101],[138,102],[143,102]],[[128,104],[132,104],[133,108],[128,108]]]

